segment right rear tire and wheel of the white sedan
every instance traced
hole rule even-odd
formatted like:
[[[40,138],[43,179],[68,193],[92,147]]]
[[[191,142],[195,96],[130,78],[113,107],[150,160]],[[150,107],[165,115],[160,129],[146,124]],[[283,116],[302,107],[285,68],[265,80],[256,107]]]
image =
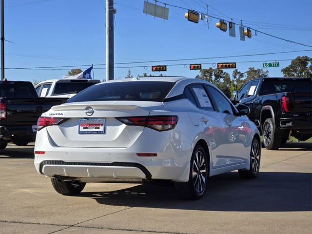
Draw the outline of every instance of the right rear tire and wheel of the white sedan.
[[[204,159],[204,162],[198,158]],[[201,163],[202,162],[202,163]],[[196,166],[201,165],[199,170]],[[190,176],[188,182],[175,182],[177,193],[184,200],[199,199],[206,191],[209,177],[209,158],[201,145],[196,145],[191,158]]]

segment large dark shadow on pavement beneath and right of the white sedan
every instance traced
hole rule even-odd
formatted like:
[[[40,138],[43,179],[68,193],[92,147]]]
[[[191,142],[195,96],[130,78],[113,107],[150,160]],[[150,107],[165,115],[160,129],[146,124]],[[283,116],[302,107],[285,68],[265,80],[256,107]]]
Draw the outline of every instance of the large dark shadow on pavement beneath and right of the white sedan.
[[[87,185],[88,186],[88,185]],[[237,172],[213,176],[199,200],[181,200],[174,186],[140,184],[78,196],[99,204],[199,211],[290,212],[312,210],[312,174],[262,172],[257,179],[241,179]]]

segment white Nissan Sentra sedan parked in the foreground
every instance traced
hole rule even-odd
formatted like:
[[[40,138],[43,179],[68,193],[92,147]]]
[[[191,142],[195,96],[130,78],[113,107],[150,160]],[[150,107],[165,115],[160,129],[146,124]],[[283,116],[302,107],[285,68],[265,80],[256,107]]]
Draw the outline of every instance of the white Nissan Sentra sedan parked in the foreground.
[[[260,134],[249,111],[195,78],[98,83],[39,117],[35,167],[62,195],[87,182],[166,180],[198,199],[209,176],[258,176]]]

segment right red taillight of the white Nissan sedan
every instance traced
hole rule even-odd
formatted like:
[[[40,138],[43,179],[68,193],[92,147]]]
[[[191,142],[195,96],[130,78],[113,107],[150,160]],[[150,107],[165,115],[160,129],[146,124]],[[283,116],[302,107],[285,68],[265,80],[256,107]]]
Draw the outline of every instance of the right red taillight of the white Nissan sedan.
[[[157,131],[174,129],[177,124],[177,116],[140,116],[140,117],[119,117],[119,121],[126,125],[144,126]]]

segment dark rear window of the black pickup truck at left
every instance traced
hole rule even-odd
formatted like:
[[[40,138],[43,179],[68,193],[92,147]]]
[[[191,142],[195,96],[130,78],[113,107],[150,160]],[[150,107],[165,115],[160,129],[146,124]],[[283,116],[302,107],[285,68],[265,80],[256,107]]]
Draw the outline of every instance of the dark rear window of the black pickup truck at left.
[[[0,83],[1,98],[38,98],[31,82]]]

